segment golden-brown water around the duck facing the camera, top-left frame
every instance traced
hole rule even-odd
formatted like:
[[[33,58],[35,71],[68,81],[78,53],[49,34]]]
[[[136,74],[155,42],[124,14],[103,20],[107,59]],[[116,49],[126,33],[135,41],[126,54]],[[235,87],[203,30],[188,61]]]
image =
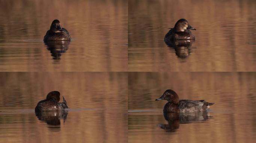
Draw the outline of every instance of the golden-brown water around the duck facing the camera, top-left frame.
[[[127,71],[126,0],[1,0],[0,71]],[[54,19],[70,43],[45,44]]]

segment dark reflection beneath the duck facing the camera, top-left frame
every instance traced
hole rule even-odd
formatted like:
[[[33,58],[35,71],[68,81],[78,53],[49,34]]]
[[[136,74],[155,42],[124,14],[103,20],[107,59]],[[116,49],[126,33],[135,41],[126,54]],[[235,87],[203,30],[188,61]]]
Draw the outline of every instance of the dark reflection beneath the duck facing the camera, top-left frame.
[[[65,53],[68,50],[68,45],[70,41],[47,41],[47,50],[51,51],[53,59],[60,59],[61,54]]]

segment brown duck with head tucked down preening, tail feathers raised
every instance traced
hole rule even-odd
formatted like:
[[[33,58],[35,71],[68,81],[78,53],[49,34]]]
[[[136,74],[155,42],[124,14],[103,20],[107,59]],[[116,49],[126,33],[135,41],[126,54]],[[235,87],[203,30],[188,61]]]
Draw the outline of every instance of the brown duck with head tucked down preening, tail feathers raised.
[[[41,111],[63,111],[68,108],[67,101],[63,96],[63,102],[60,101],[60,92],[52,91],[46,96],[46,99],[41,100],[37,103],[35,112]]]

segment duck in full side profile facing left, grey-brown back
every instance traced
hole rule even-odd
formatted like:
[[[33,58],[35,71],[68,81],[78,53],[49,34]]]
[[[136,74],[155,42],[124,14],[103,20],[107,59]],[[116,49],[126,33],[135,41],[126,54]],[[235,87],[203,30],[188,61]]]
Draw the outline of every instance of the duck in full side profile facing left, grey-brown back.
[[[167,100],[164,105],[164,112],[202,112],[210,109],[214,103],[206,102],[205,100],[180,100],[178,94],[171,89],[167,89],[164,94],[155,101]]]

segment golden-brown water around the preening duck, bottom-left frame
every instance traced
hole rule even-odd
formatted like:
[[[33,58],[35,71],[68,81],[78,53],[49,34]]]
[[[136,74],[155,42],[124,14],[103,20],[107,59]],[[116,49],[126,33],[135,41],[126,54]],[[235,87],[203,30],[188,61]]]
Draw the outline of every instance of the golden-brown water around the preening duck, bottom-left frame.
[[[127,73],[0,73],[0,142],[127,142],[127,77]],[[70,109],[37,117],[37,102],[52,90],[65,96]]]

